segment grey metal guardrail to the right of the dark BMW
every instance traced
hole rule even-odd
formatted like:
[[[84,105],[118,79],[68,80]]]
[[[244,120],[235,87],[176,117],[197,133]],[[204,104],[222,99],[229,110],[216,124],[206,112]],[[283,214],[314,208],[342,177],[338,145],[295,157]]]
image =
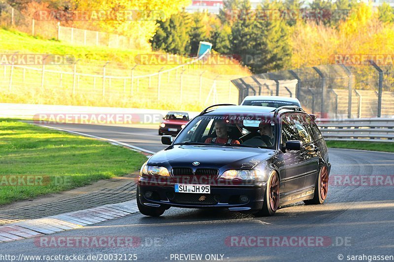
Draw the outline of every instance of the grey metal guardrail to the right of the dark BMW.
[[[394,142],[394,118],[316,119],[326,140]]]

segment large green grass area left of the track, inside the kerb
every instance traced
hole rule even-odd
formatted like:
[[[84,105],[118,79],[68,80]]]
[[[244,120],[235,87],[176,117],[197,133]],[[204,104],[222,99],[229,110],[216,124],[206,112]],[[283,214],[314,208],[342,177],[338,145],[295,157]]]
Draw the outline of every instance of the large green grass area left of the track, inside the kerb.
[[[144,161],[146,156],[124,147],[0,119],[0,204],[130,174]],[[28,179],[32,185],[10,185]]]

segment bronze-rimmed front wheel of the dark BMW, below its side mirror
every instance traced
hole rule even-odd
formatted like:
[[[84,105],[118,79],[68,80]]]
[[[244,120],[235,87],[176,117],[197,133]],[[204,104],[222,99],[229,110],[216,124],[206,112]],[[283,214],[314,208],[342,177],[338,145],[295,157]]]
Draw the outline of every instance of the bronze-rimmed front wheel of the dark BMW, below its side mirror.
[[[267,186],[264,193],[263,208],[255,216],[272,216],[279,207],[280,182],[276,172],[272,172],[268,177]]]

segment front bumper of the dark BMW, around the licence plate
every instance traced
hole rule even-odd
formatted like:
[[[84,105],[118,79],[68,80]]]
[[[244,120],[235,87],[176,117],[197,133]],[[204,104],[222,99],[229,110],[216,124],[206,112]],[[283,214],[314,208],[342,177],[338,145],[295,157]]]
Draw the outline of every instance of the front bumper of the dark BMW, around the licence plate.
[[[210,185],[210,194],[175,193],[174,183],[149,184],[138,181],[138,200],[155,207],[228,208],[232,211],[258,211],[263,208],[266,183],[256,185]],[[145,192],[151,191],[150,198]],[[241,196],[245,201],[241,201]],[[202,197],[202,198],[201,198]]]

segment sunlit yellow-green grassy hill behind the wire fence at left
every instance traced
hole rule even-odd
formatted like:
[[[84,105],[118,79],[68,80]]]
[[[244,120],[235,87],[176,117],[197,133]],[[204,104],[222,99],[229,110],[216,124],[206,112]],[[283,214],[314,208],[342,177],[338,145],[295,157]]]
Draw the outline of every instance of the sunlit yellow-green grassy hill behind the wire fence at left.
[[[182,69],[165,73],[161,76],[161,92],[158,92],[159,79],[157,76],[150,79],[148,77],[134,79],[132,83],[134,89],[131,91],[131,68],[136,65],[134,58],[141,54],[163,55],[164,53],[99,46],[76,46],[7,29],[0,29],[0,43],[3,54],[18,52],[19,54],[71,55],[80,59],[76,72],[85,74],[78,76],[75,80],[72,75],[72,64],[46,65],[44,85],[41,85],[41,65],[28,65],[29,68],[25,69],[14,67],[12,73],[11,66],[4,66],[4,69],[0,68],[0,88],[2,90],[0,102],[5,103],[198,111],[214,102],[236,102],[237,89],[230,84],[230,80],[250,75],[247,68],[227,59],[222,60],[221,64],[190,66],[185,68],[187,70],[183,73]],[[187,61],[188,59],[182,60]],[[111,80],[105,78],[105,95],[102,95],[102,72],[106,61],[109,61],[105,66],[106,76],[119,76],[120,78]],[[133,74],[134,77],[145,76],[177,65],[138,64]],[[33,70],[32,67],[36,69]],[[122,77],[128,79],[122,79]],[[11,85],[9,85],[10,82],[12,82]],[[77,83],[75,84],[75,82]],[[73,86],[74,93],[72,92]],[[216,90],[213,89],[214,86]],[[231,101],[229,101],[230,99]]]

